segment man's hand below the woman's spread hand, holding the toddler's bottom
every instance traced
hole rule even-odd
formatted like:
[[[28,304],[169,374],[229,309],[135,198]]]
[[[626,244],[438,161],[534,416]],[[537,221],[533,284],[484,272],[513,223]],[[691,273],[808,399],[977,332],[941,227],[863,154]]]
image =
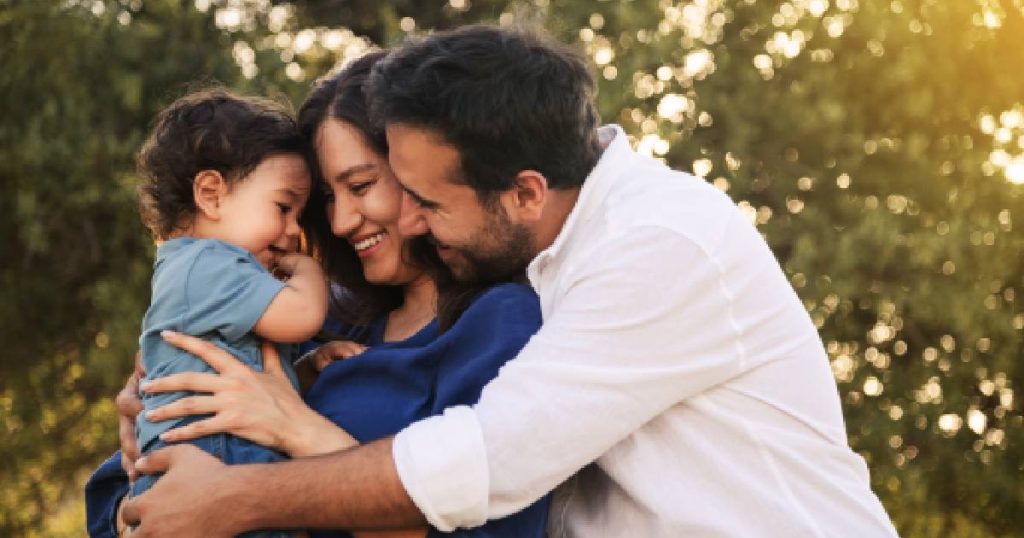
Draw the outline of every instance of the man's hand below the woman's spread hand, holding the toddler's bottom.
[[[244,466],[244,465],[242,465]],[[130,536],[205,536],[230,538],[243,532],[224,479],[233,469],[191,445],[175,445],[148,454],[140,472],[165,474],[152,489],[124,502],[121,516],[138,526]]]

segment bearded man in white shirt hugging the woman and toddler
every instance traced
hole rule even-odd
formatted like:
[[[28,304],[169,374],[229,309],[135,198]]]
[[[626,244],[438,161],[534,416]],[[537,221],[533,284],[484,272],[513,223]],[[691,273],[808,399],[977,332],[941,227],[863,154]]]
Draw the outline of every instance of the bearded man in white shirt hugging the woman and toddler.
[[[404,232],[459,278],[525,270],[544,326],[476,406],[393,439],[275,465],[140,461],[167,470],[125,506],[142,536],[453,530],[556,487],[554,536],[895,535],[767,245],[720,192],[598,129],[581,56],[468,27],[393,52],[369,93]]]

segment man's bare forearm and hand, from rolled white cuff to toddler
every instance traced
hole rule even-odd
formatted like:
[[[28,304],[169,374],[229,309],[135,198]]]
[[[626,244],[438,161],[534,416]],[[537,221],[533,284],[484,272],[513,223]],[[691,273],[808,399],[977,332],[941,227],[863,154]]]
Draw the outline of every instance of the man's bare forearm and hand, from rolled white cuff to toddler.
[[[224,465],[193,446],[170,447],[138,461],[140,471],[165,474],[127,501],[123,516],[139,525],[141,537],[423,527],[426,520],[398,480],[391,443],[252,465]]]

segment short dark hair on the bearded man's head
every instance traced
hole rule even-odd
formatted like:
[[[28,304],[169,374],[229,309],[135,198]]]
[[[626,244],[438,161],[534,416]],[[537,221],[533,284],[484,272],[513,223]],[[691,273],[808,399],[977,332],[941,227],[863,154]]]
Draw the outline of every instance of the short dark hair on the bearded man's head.
[[[469,26],[414,39],[377,64],[368,88],[378,128],[438,134],[462,160],[452,179],[485,202],[522,170],[579,187],[600,156],[587,60],[536,32]]]

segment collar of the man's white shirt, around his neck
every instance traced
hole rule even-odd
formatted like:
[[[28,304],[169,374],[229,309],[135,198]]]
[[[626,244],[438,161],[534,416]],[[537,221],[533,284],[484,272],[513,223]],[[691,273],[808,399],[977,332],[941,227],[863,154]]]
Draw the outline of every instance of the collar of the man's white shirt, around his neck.
[[[535,287],[537,274],[543,268],[548,259],[557,256],[561,252],[564,245],[570,241],[574,231],[590,220],[594,212],[603,205],[604,199],[607,198],[615,178],[633,155],[633,149],[630,147],[626,132],[618,125],[605,125],[601,127],[598,129],[598,138],[602,144],[607,142],[607,147],[601,153],[601,158],[597,161],[597,165],[594,166],[594,169],[590,171],[590,174],[584,180],[583,187],[580,190],[580,197],[577,198],[572,211],[565,218],[562,230],[555,237],[555,241],[551,243],[551,246],[542,250],[526,270],[526,274],[529,276],[530,282],[535,284]]]

